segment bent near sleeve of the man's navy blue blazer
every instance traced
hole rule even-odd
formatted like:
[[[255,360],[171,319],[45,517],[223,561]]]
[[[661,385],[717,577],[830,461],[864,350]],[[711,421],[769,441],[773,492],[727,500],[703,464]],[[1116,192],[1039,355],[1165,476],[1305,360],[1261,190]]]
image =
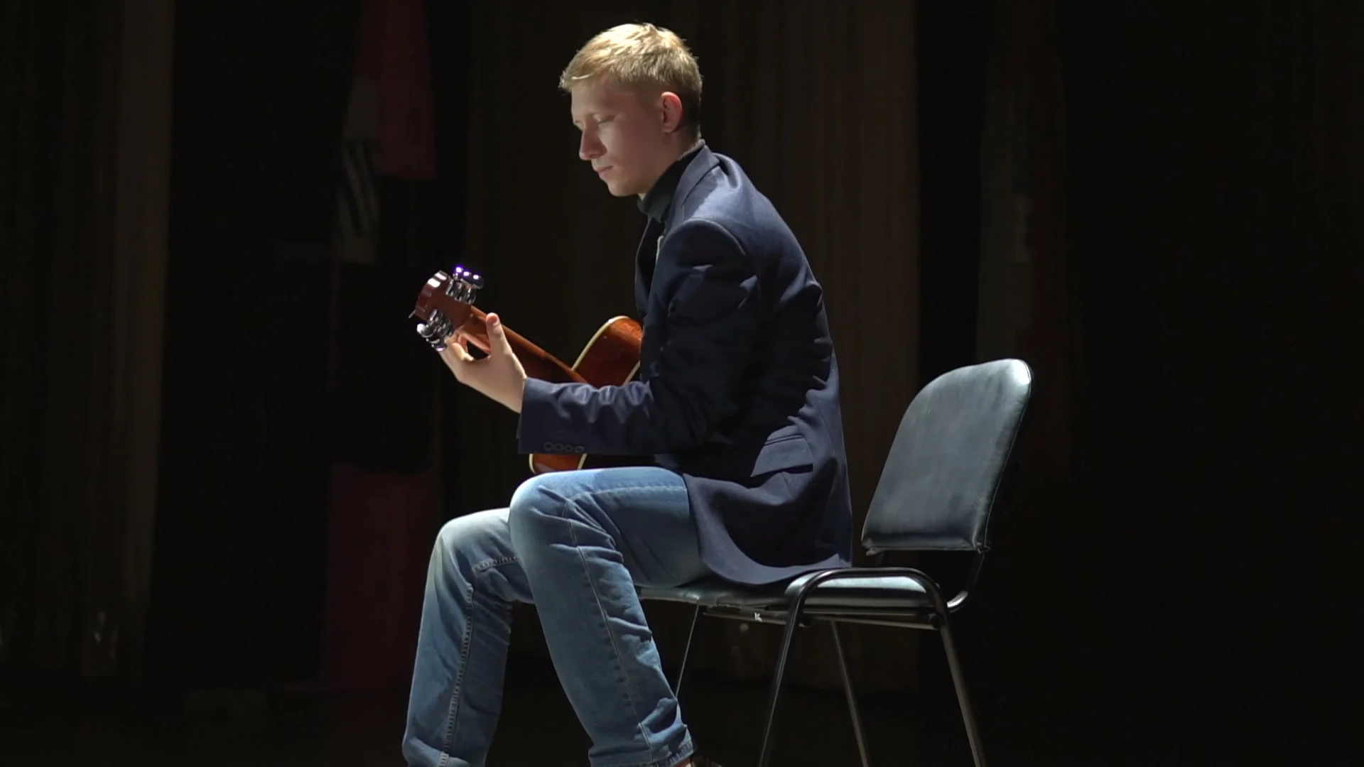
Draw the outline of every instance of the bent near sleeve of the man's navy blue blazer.
[[[716,426],[762,318],[753,259],[713,221],[678,225],[659,254],[666,341],[647,381],[525,382],[522,453],[655,454],[700,445]]]

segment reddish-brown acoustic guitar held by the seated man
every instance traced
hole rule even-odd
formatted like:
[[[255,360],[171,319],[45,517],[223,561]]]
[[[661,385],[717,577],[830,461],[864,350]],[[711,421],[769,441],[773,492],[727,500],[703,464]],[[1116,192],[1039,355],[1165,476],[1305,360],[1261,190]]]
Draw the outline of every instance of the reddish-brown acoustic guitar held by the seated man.
[[[487,314],[473,306],[483,277],[456,266],[453,274],[436,272],[421,285],[417,306],[412,318],[420,319],[417,333],[436,351],[445,349],[445,341],[456,330],[464,330],[473,345],[484,353],[488,351]],[[593,386],[621,386],[634,378],[640,370],[640,341],[644,329],[629,317],[607,319],[592,338],[588,340],[577,362],[563,364],[558,358],[525,340],[510,328],[503,326],[507,341],[521,360],[521,367],[529,378],[550,384],[591,384]],[[531,471],[546,474],[582,468],[587,456],[580,453],[532,453]]]

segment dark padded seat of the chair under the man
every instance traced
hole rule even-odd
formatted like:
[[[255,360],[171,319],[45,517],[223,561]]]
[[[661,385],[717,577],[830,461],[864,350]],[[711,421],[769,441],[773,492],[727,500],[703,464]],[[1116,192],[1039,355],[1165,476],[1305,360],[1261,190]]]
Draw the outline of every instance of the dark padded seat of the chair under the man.
[[[675,588],[640,587],[640,599],[683,602],[701,607],[784,609],[816,573],[806,573],[790,583],[767,587],[743,587],[719,579],[700,580]],[[806,596],[806,607],[817,610],[932,610],[928,592],[907,576],[866,576],[827,580]]]

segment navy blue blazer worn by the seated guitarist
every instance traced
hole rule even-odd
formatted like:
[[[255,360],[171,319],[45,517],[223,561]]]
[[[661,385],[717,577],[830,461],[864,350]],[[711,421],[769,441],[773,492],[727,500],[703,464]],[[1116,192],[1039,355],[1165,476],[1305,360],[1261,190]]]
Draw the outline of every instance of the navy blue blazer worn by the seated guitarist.
[[[765,584],[853,557],[824,291],[772,203],[702,146],[636,254],[640,377],[529,379],[522,453],[652,454],[682,475],[716,575]]]

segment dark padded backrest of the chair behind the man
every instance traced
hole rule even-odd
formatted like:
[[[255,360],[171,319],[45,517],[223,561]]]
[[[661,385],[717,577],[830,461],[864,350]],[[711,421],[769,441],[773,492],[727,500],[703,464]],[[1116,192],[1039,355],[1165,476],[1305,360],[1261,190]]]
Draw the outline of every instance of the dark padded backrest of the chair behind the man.
[[[1033,371],[1016,359],[959,367],[925,386],[900,419],[862,546],[983,551],[1031,392]]]

